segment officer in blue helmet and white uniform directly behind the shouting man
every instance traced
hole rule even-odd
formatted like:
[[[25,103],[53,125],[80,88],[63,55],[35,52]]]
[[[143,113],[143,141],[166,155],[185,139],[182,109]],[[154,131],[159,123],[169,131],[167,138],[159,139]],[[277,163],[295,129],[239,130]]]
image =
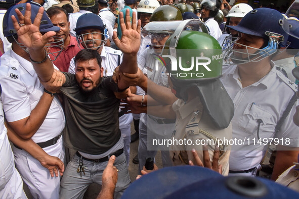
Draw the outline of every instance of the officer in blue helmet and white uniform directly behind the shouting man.
[[[110,11],[109,11],[110,12]],[[100,53],[102,58],[102,67],[104,69],[103,75],[112,76],[114,69],[120,65],[122,61],[123,53],[121,51],[117,51],[111,47],[104,46],[107,35],[104,35],[105,26],[102,20],[97,17],[95,14],[87,14],[82,15],[78,18],[77,25],[76,25],[76,37],[77,40],[80,41],[84,48],[92,48],[97,49]],[[96,31],[90,33],[90,30]],[[83,34],[89,34],[89,39],[84,41]],[[100,37],[99,37],[100,36]],[[93,43],[90,45],[90,43]],[[75,74],[75,64],[74,58],[70,62],[70,67],[68,69],[69,73]],[[131,122],[133,121],[132,114],[123,114],[123,112],[119,112],[119,129],[121,131],[123,137],[123,144],[124,144],[124,154],[126,157],[126,162],[129,165],[130,159],[130,142],[131,142]]]

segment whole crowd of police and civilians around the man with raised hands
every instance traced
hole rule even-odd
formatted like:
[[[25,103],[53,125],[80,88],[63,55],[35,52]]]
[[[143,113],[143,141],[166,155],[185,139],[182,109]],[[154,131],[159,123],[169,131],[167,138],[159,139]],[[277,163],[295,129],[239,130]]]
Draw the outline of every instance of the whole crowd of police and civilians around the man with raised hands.
[[[27,198],[24,181],[33,198],[83,198],[92,183],[98,198],[120,198],[136,139],[137,179],[161,151],[163,167],[262,170],[298,191],[288,174],[299,161],[299,16],[285,12],[225,0],[0,2],[0,196]]]

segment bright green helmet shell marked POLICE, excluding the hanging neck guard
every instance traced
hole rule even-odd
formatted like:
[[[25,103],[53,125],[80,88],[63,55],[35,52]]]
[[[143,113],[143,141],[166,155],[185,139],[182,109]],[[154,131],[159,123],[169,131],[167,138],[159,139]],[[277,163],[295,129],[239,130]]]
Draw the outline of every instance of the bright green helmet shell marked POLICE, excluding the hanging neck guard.
[[[168,55],[177,61],[167,59]],[[222,74],[221,46],[207,33],[182,31],[179,37],[174,33],[166,41],[161,57],[169,75],[172,74],[170,79],[177,86],[216,80]]]

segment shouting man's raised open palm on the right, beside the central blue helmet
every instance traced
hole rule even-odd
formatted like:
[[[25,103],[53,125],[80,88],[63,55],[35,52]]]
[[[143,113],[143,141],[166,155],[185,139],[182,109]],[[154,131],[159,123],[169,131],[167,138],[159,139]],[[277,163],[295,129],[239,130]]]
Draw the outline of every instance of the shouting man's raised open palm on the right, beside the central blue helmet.
[[[137,54],[140,47],[140,31],[141,31],[141,21],[138,20],[136,24],[136,13],[132,13],[132,25],[130,20],[130,10],[125,11],[125,23],[123,19],[123,13],[119,13],[119,23],[121,28],[121,38],[117,37],[116,32],[113,32],[113,40],[116,46],[124,54]]]

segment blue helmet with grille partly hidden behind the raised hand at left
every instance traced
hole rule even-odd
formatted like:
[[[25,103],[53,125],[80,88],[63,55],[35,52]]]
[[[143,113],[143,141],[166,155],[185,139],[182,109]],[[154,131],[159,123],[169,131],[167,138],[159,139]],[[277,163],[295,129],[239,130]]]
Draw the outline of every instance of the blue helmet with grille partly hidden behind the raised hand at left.
[[[22,43],[20,43],[17,39],[16,39],[16,36],[17,36],[17,31],[14,27],[14,24],[13,24],[13,20],[12,20],[12,16],[16,16],[16,19],[19,23],[19,19],[17,17],[17,13],[15,11],[15,9],[19,9],[19,11],[25,15],[25,11],[26,11],[26,4],[18,4],[18,5],[15,5],[13,7],[11,7],[10,9],[7,10],[7,12],[5,13],[4,15],[4,18],[3,18],[3,34],[5,37],[8,37],[8,36],[13,36],[13,38],[15,39],[15,41],[18,43],[18,45],[24,49],[24,51],[27,51],[26,49],[26,46],[24,46]],[[38,10],[39,10],[39,7],[38,6],[35,6],[35,5],[31,5],[31,22],[33,23],[37,13],[38,13]],[[44,11],[44,14],[42,15],[41,17],[41,21],[40,21],[40,25],[39,25],[39,32],[41,33],[46,33],[46,32],[49,32],[49,31],[55,31],[55,32],[58,32],[60,30],[59,27],[57,26],[54,26],[50,20],[50,18],[48,17],[47,13]],[[45,47],[58,47],[59,50],[57,50],[57,52],[51,52],[51,53],[48,53],[49,56],[50,56],[50,59],[52,61],[55,61],[57,59],[57,57],[59,56],[59,54],[61,53],[62,51],[62,46],[63,46],[63,39],[60,38],[60,37],[54,37],[54,42],[48,42],[46,44]]]

